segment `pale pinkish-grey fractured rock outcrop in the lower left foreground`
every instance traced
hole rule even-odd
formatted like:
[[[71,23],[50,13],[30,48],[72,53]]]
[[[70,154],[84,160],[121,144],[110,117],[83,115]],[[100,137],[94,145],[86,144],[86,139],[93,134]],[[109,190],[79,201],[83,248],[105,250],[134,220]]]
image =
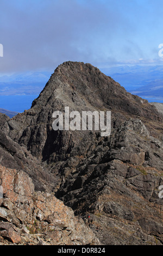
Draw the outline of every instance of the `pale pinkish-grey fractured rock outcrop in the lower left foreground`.
[[[98,244],[82,218],[52,193],[34,191],[22,170],[0,166],[0,245]]]

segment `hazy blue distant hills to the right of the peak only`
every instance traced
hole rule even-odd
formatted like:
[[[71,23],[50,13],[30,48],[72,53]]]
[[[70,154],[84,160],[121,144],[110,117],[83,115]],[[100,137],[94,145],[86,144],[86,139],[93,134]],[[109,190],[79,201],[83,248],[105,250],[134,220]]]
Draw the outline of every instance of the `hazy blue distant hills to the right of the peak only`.
[[[157,97],[163,102],[163,66],[117,66],[102,69],[128,92],[140,97]]]

